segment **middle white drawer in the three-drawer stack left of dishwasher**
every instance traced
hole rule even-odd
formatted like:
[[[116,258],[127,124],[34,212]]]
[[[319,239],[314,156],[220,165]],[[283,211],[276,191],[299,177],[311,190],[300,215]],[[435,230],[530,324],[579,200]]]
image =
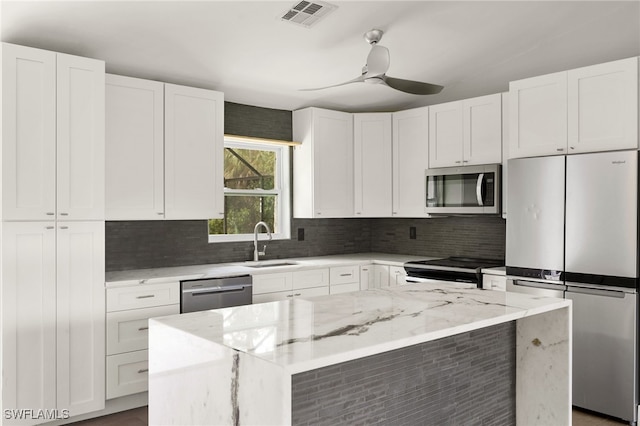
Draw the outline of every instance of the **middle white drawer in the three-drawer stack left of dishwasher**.
[[[107,314],[107,355],[147,349],[148,319],[179,313],[179,304],[109,312]]]

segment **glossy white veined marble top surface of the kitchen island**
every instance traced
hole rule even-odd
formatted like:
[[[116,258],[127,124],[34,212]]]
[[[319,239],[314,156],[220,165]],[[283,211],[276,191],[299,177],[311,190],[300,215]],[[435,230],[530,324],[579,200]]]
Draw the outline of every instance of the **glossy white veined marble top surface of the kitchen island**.
[[[409,284],[194,312],[152,319],[150,324],[152,329],[154,323],[163,326],[156,327],[156,333],[179,332],[183,344],[204,339],[296,374],[566,308],[570,303],[456,284]]]

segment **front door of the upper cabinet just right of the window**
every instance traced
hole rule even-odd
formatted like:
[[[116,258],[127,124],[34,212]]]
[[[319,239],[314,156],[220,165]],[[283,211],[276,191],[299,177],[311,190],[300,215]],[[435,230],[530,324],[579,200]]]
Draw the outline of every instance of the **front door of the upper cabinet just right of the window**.
[[[351,114],[314,110],[315,217],[353,216],[353,119]]]

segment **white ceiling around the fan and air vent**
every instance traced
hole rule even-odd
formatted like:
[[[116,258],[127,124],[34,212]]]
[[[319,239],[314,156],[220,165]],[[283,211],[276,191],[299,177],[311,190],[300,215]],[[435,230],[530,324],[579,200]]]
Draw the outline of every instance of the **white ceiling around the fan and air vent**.
[[[394,111],[508,90],[525,77],[640,55],[640,1],[330,1],[312,28],[298,1],[2,1],[2,41],[99,58],[107,72],[210,88],[242,104]],[[445,86],[417,96],[351,84],[385,34],[387,75]]]

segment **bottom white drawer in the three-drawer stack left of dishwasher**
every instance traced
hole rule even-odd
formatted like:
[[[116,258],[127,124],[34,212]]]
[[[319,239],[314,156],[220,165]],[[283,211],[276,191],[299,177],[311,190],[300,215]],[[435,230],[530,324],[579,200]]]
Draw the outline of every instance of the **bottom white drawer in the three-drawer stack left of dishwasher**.
[[[149,352],[107,357],[107,399],[145,392],[149,388]]]

